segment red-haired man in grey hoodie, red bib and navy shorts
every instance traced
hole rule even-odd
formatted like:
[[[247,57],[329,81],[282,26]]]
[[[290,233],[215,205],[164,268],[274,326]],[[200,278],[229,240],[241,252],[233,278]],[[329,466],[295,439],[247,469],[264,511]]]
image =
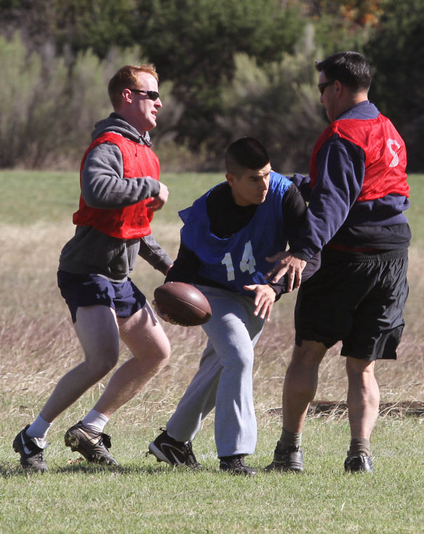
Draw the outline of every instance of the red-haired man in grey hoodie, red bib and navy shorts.
[[[154,211],[168,199],[148,134],[162,105],[157,72],[153,65],[122,67],[108,92],[114,112],[95,124],[82,159],[77,228],[62,249],[58,270],[85,359],[60,379],[38,417],[13,441],[22,467],[34,471],[47,470],[44,448],[53,420],[117,364],[121,338],[132,357],[65,434],[65,445],[89,462],[117,465],[105,424],[150,382],[170,352],[152,308],[128,276],[138,254],[164,275],[172,264],[150,230]]]

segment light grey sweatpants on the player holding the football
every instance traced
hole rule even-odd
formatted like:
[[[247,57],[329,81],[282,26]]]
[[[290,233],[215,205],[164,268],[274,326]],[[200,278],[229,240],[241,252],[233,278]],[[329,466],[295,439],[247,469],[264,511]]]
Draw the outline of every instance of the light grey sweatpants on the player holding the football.
[[[213,408],[218,457],[251,455],[257,428],[253,407],[253,348],[264,320],[253,315],[251,297],[216,287],[197,286],[211,304],[203,325],[208,342],[199,370],[166,424],[178,441],[192,440]]]

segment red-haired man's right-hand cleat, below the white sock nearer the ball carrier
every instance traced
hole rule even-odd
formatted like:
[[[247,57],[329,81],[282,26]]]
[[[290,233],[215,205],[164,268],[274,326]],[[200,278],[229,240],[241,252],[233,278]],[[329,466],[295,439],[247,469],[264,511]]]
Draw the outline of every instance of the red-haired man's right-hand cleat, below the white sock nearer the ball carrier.
[[[67,429],[65,445],[71,450],[77,450],[88,462],[118,465],[109,452],[112,446],[110,436],[86,428],[81,421]]]

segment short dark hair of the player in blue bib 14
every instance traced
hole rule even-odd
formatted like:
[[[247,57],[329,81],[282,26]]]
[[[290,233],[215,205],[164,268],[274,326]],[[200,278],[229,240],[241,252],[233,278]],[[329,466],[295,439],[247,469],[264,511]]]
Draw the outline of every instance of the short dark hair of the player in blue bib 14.
[[[268,163],[268,152],[253,137],[242,137],[234,141],[225,152],[225,167],[234,176],[239,176],[245,169],[262,169]]]

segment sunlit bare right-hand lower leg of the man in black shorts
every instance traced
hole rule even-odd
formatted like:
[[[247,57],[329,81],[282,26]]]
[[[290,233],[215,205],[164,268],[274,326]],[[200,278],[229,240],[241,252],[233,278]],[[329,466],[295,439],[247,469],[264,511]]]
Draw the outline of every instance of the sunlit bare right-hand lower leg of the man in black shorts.
[[[350,434],[352,438],[367,438],[378,417],[380,392],[374,376],[375,362],[346,359],[348,379],[347,410],[349,412]]]

